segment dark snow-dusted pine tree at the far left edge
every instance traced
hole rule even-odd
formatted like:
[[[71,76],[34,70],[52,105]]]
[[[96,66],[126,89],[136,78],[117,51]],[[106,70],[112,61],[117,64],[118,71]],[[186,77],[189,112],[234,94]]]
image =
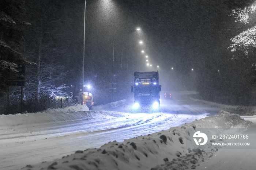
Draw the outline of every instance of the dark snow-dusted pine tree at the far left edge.
[[[0,97],[7,91],[10,75],[18,73],[18,66],[31,64],[24,57],[23,20],[26,9],[24,0],[1,0],[0,2]]]

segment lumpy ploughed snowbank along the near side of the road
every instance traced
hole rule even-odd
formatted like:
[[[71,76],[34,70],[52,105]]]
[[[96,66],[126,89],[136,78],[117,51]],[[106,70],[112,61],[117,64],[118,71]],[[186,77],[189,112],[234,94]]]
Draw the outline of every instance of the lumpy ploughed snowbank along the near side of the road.
[[[40,165],[27,165],[23,169],[195,169],[200,162],[212,157],[220,148],[207,144],[197,147],[193,141],[193,134],[198,128],[244,128],[246,130],[250,123],[237,114],[220,111],[217,116],[206,117],[154,134],[138,136],[122,143],[114,141],[100,148],[78,150],[75,154],[62,159]],[[187,148],[186,141],[189,141],[193,147]]]

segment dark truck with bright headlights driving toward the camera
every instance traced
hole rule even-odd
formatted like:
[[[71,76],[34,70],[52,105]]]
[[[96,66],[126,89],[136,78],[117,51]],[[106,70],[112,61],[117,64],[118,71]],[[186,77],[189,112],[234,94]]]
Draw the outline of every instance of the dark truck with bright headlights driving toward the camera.
[[[159,74],[157,72],[135,72],[134,85],[131,86],[134,92],[134,107],[153,107],[160,105],[161,85],[159,85]]]

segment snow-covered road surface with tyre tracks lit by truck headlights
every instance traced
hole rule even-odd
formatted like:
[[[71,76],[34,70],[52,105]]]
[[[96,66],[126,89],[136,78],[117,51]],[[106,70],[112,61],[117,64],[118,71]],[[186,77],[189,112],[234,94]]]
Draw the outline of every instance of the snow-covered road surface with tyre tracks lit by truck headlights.
[[[173,93],[172,96],[172,100],[161,100],[161,111],[156,113],[129,112],[133,103],[131,99],[94,107],[93,111],[71,112],[63,120],[40,122],[41,118],[37,116],[40,113],[33,113],[32,116],[38,117],[37,123],[24,120],[24,123],[1,126],[0,169],[15,170],[52,161],[73,154],[76,150],[97,148],[114,140],[123,142],[219,112],[218,108],[191,100],[188,93]],[[51,114],[58,117],[64,113]],[[74,118],[75,115],[89,116]],[[6,117],[0,116],[1,123]]]

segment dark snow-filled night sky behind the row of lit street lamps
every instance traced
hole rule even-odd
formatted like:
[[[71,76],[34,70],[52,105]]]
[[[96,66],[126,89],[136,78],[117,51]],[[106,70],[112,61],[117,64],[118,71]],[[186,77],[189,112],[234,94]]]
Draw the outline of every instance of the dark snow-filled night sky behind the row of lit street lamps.
[[[115,66],[121,65],[123,49],[123,59],[128,59],[129,65],[132,65],[131,61],[135,64],[131,72],[147,70],[146,54],[151,63],[160,66],[158,70],[163,74],[171,74],[170,67],[180,75],[188,74],[191,68],[202,70],[208,65],[218,69],[219,48],[227,49],[231,38],[223,40],[222,30],[227,26],[230,12],[230,4],[223,2],[88,0],[87,57],[99,55],[99,58],[93,58],[94,61],[102,63],[99,61],[102,60],[108,63],[105,65],[108,67],[115,42]],[[79,5],[82,11],[83,2]],[[137,26],[142,28],[142,34],[138,35],[134,30]],[[140,53],[142,48],[136,44],[140,38],[144,41],[145,55]],[[205,62],[208,62],[207,66]]]

